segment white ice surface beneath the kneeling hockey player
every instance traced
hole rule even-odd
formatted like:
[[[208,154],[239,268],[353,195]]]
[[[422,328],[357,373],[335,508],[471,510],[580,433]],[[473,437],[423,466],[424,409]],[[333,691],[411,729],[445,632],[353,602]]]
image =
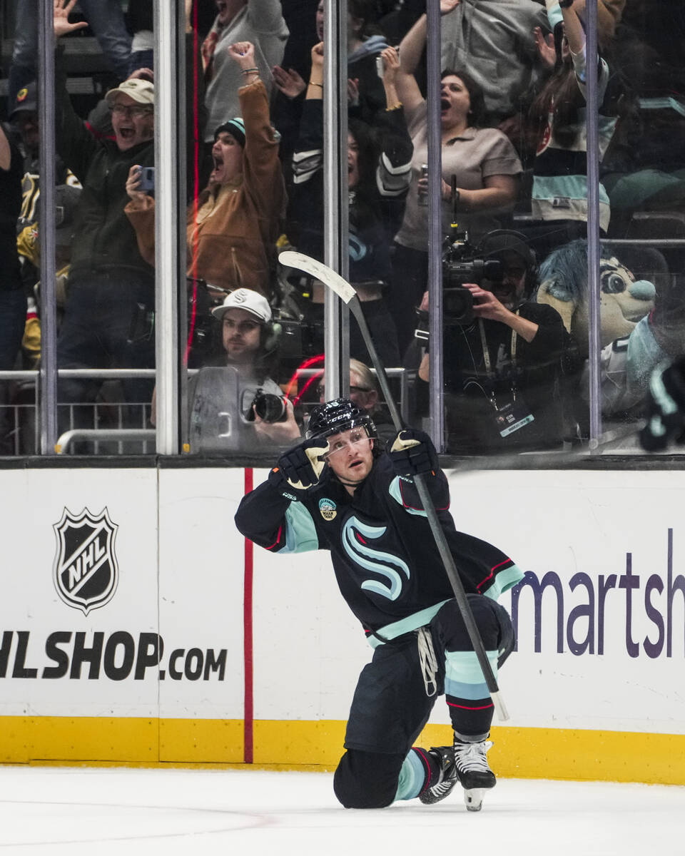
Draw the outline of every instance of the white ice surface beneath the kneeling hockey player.
[[[501,779],[479,813],[457,788],[358,811],[324,773],[0,767],[0,856],[652,856],[683,833],[680,787]]]

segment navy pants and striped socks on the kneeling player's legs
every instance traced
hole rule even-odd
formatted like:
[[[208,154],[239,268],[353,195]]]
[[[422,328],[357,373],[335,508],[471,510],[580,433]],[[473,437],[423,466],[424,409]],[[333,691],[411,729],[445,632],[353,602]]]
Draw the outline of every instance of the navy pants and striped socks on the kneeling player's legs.
[[[514,647],[509,614],[489,597],[468,595],[468,602],[497,676]],[[347,751],[333,782],[347,808],[381,808],[420,793],[429,773],[436,772],[430,768],[434,762],[423,750],[408,753],[438,695],[445,695],[456,732],[476,739],[488,734],[492,701],[456,601],[445,603],[427,629],[436,657],[433,682],[421,663],[420,631],[379,645],[362,669],[348,718]],[[411,763],[402,768],[405,759]]]

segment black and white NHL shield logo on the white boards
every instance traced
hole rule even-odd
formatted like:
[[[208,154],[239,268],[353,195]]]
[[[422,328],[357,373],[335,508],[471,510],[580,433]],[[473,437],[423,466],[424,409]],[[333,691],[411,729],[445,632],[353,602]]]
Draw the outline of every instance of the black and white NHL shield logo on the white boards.
[[[64,509],[62,520],[53,524],[57,554],[53,578],[64,603],[88,615],[109,603],[119,581],[114,542],[118,526],[107,508],[95,516],[87,508],[78,515]]]

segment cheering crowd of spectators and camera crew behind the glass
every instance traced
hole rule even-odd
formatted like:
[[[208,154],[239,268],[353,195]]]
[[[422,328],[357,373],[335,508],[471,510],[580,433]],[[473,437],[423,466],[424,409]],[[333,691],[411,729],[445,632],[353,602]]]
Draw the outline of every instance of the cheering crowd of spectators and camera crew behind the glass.
[[[586,51],[589,2],[598,7],[599,56]],[[55,3],[60,368],[155,366],[152,6]],[[580,258],[587,241],[591,63],[599,225],[609,241],[602,291],[634,298],[630,315],[626,301],[603,296],[605,415],[639,416],[641,366],[682,352],[685,253],[643,248],[624,261],[620,248],[610,252],[612,238],[685,238],[685,154],[668,142],[685,122],[685,68],[674,47],[685,42],[685,13],[666,6],[440,0],[444,383],[454,454],[561,448],[587,431],[579,407],[587,387],[583,285],[569,290],[560,270],[563,248]],[[184,0],[182,358],[193,370],[194,450],[287,445],[306,424],[307,402],[317,401],[311,375],[299,372],[320,368],[324,287],[283,269],[277,255],[291,247],[323,260],[327,9],[325,0]],[[37,20],[35,0],[16,0],[9,123],[0,129],[3,369],[40,360]],[[98,40],[112,75],[87,109],[69,95],[63,50],[84,32]],[[422,0],[348,0],[349,280],[384,364],[412,378],[414,417],[427,413],[432,292],[426,32]],[[623,326],[614,324],[617,306]],[[349,350],[351,372],[362,378],[352,385],[382,407],[354,318]],[[246,363],[234,352],[252,356]],[[152,387],[124,378],[120,392],[149,411]],[[262,413],[255,396],[279,390],[287,392],[283,412]],[[7,399],[6,385],[2,392]],[[97,378],[58,386],[62,405],[98,395]]]

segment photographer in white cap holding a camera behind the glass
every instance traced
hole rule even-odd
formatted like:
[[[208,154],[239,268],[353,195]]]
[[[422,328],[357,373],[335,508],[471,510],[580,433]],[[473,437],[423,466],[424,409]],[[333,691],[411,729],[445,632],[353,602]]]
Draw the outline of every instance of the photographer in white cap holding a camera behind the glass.
[[[280,325],[262,294],[231,292],[211,310],[222,325],[223,355],[188,381],[193,451],[254,451],[299,439],[292,402],[271,378]]]

